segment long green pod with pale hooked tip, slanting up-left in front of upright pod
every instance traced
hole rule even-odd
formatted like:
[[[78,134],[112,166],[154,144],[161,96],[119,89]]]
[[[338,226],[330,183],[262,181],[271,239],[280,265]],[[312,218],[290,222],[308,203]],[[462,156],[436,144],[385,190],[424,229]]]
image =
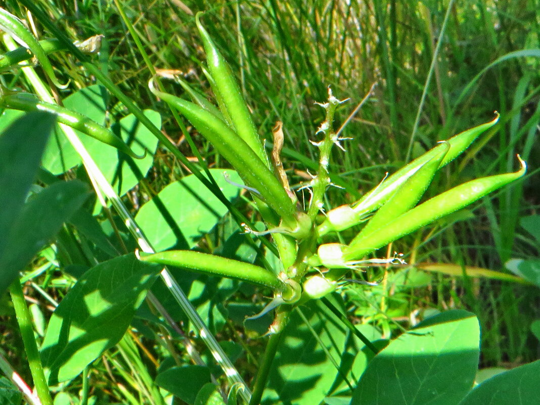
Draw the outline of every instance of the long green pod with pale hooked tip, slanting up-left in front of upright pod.
[[[244,183],[255,188],[262,199],[278,213],[284,226],[291,230],[298,227],[296,209],[283,186],[261,159],[237,133],[221,119],[196,104],[158,91],[152,82],[150,90],[182,113],[197,130],[212,143],[237,170]]]

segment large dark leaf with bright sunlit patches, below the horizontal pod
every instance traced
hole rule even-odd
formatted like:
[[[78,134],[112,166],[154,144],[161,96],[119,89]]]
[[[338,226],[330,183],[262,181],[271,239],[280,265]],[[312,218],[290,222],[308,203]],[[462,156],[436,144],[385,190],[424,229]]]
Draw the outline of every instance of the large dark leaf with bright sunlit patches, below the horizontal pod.
[[[161,266],[133,254],[87,271],[52,314],[41,349],[50,384],[77,376],[126,332]]]

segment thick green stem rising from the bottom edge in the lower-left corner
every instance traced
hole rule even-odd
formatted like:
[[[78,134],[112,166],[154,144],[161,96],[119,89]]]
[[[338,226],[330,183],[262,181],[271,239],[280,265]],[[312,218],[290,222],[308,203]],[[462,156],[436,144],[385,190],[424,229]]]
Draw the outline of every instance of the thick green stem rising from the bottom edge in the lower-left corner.
[[[19,281],[18,278],[11,283],[9,293],[11,294],[11,301],[13,302],[13,307],[15,309],[17,323],[19,324],[19,329],[21,329],[21,338],[23,340],[26,357],[28,357],[28,365],[30,366],[30,373],[32,374],[32,379],[36,386],[37,395],[43,405],[52,405],[49,385],[45,379],[43,365],[37,350],[36,339],[34,338],[30,310],[24,301],[21,281]]]

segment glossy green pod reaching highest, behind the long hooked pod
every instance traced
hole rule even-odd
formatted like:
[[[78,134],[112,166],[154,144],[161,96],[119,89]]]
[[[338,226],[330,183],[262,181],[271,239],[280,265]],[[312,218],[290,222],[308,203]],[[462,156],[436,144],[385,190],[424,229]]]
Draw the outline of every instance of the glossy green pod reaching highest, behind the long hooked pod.
[[[201,14],[203,13],[197,13],[195,22],[197,23],[201,39],[203,39],[208,70],[210,70],[210,74],[212,75],[215,89],[219,92],[228,112],[228,116],[231,117],[231,121],[240,138],[242,138],[255,154],[257,154],[257,156],[269,167],[268,157],[262,146],[261,138],[255,129],[251,114],[240,93],[240,89],[234,79],[231,68],[229,68],[224,57],[212,41],[212,38],[208,35],[203,24],[201,24]]]

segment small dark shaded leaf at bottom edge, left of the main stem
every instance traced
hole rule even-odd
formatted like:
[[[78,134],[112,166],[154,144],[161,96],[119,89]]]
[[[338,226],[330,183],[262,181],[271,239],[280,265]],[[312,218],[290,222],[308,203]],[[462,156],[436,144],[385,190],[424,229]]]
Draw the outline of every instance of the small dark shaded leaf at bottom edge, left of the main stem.
[[[203,366],[172,367],[156,376],[156,384],[193,405],[200,389],[210,382],[210,369]]]

